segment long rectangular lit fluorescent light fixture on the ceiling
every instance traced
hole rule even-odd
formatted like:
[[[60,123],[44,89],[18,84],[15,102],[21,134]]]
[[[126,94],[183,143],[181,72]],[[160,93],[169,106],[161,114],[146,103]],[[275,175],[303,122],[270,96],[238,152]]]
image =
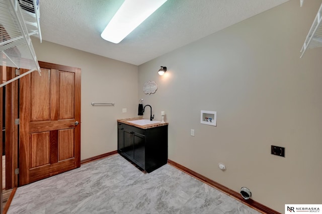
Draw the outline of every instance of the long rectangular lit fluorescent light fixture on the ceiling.
[[[119,43],[167,0],[125,0],[101,37]]]

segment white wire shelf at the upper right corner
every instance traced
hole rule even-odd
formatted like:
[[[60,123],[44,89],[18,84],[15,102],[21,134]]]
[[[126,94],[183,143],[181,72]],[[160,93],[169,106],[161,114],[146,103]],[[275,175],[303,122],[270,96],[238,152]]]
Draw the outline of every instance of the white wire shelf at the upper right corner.
[[[302,2],[301,2],[302,4]],[[320,8],[318,9],[318,12],[315,16],[315,19],[313,21],[313,24],[308,31],[308,34],[306,36],[306,39],[304,41],[304,44],[301,49],[301,56],[304,55],[304,52],[308,48],[315,48],[315,47],[322,47],[322,26],[321,26],[321,21],[322,21],[322,4]]]

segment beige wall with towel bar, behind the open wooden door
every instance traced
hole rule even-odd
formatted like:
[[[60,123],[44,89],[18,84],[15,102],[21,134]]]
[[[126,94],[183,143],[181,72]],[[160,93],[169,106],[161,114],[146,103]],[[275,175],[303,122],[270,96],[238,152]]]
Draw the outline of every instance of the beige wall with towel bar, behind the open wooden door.
[[[40,61],[82,69],[81,159],[117,150],[116,119],[137,114],[138,66],[37,39],[33,46]]]

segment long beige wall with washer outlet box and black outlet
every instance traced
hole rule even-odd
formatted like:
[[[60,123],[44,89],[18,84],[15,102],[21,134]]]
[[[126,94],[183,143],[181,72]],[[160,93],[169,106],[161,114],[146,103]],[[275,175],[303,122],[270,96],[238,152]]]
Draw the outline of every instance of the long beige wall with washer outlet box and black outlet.
[[[321,203],[322,48],[299,58],[321,2],[291,0],[139,66],[139,98],[155,119],[167,114],[169,159],[282,213]],[[217,126],[200,124],[200,110],[217,111]]]

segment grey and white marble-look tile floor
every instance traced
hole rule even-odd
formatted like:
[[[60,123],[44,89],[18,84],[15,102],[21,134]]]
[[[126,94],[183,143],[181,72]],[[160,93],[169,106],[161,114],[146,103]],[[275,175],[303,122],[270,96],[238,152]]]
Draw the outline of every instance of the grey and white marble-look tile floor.
[[[165,165],[142,173],[120,155],[19,187],[8,214],[258,214]]]

